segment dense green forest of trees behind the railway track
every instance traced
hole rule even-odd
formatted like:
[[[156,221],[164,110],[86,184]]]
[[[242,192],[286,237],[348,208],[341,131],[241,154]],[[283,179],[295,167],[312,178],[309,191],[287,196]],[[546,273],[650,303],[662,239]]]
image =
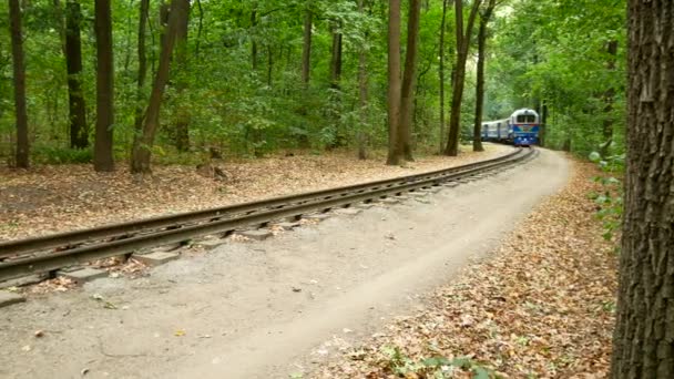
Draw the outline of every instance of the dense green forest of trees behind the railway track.
[[[0,157],[12,167],[150,172],[288,148],[361,158],[388,148],[397,164],[413,152],[457,155],[476,120],[519,107],[544,116],[545,146],[621,153],[624,9],[614,0],[8,0]]]

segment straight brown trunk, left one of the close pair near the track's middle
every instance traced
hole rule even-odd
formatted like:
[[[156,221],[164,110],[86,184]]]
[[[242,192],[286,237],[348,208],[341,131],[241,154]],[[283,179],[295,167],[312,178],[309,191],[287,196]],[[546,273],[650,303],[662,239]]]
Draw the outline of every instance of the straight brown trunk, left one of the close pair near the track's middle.
[[[400,163],[400,0],[389,0],[388,6],[388,157],[386,164]]]

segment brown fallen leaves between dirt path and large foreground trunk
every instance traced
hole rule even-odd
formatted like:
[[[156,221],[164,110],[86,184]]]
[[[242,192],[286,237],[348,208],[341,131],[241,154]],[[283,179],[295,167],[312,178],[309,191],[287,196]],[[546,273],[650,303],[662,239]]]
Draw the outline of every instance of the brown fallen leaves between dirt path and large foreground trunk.
[[[588,196],[599,190],[594,165],[574,161],[566,187],[496,252],[430,294],[423,310],[398,317],[309,377],[607,376],[617,257]]]

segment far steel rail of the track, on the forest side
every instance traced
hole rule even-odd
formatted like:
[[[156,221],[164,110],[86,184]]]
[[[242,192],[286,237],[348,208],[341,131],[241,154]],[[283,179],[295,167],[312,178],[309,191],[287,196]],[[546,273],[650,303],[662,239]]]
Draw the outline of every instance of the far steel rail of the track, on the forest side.
[[[518,154],[519,151],[480,162],[470,163],[467,165],[436,170],[431,172],[413,174],[402,177],[395,177],[389,180],[381,180],[375,182],[360,183],[350,186],[343,186],[329,190],[320,190],[306,192],[289,196],[272,197],[268,199],[247,202],[241,204],[234,204],[223,207],[201,209],[181,213],[176,215],[165,215],[159,217],[151,217],[141,221],[125,222],[119,224],[103,225],[89,229],[80,229],[73,232],[65,232],[52,235],[45,235],[40,237],[32,237],[19,240],[10,240],[0,243],[0,260],[8,257],[13,257],[20,254],[35,252],[35,250],[49,250],[55,248],[72,248],[82,244],[92,243],[100,239],[120,239],[129,236],[147,233],[166,227],[173,227],[177,224],[193,224],[207,222],[213,218],[227,217],[235,214],[258,212],[262,208],[276,208],[284,207],[292,203],[303,203],[309,201],[319,201],[320,198],[329,198],[333,196],[341,196],[346,193],[354,191],[367,191],[367,188],[375,188],[377,186],[394,186],[399,183],[407,183],[410,181],[419,181],[422,178],[429,178],[432,176],[445,176],[451,173],[456,173],[462,170],[479,167],[489,165],[496,162],[508,160]]]

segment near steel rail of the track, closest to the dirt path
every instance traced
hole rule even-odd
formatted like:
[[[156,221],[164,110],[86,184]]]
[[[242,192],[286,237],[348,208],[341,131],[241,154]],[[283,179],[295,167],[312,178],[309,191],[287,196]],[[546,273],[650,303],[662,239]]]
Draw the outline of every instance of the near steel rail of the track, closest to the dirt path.
[[[264,225],[272,219],[290,216],[296,217],[310,212],[327,211],[364,201],[367,202],[387,197],[391,194],[401,194],[404,192],[439,185],[440,183],[449,180],[455,181],[464,176],[481,173],[483,171],[491,171],[497,167],[520,162],[532,156],[533,153],[533,150],[529,150],[525,153],[519,152],[514,155],[509,155],[509,157],[506,160],[492,162],[487,166],[473,166],[471,168],[448,175],[427,177],[415,182],[404,182],[396,186],[378,186],[371,191],[356,191],[348,194],[341,194],[340,196],[327,197],[319,202],[293,204],[275,209],[264,209],[261,212],[234,216],[226,219],[213,219],[212,222],[205,224],[181,226],[177,228],[163,229],[152,234],[134,235],[124,239],[92,244],[89,246],[76,247],[40,256],[28,256],[19,259],[2,262],[0,263],[0,281],[32,274],[52,272],[61,267],[82,265],[94,259],[129,254],[141,248],[180,243],[197,236],[231,232],[244,226]]]

